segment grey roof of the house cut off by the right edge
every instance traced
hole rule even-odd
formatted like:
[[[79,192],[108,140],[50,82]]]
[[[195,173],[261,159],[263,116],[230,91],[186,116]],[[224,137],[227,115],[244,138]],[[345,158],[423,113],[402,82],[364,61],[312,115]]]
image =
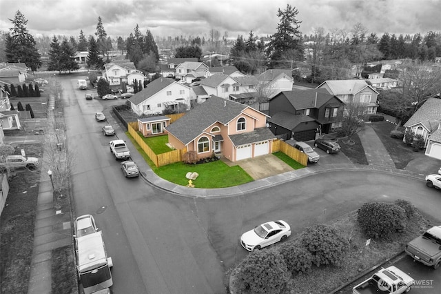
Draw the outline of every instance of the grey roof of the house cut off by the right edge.
[[[429,98],[411,118],[404,124],[405,127],[415,124],[424,124],[429,130],[438,128],[441,121],[441,99]]]

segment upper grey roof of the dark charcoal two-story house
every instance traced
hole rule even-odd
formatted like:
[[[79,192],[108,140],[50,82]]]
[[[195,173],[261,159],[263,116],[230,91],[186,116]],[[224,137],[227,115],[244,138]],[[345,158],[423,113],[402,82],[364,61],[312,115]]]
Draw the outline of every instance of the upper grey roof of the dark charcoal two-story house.
[[[294,106],[296,110],[320,108],[321,106],[327,104],[327,101],[335,97],[334,95],[329,94],[329,92],[325,88],[283,91],[275,97],[279,97],[280,95],[285,95],[289,103]],[[275,97],[273,97],[272,99],[274,99]],[[337,100],[340,100],[337,97],[335,98]]]

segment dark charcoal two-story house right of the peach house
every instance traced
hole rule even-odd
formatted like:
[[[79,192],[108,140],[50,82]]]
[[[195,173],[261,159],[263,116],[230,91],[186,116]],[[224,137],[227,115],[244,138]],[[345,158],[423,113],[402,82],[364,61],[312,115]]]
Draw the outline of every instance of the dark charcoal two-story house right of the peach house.
[[[283,91],[269,100],[269,129],[282,139],[309,141],[342,126],[345,104],[326,89]]]

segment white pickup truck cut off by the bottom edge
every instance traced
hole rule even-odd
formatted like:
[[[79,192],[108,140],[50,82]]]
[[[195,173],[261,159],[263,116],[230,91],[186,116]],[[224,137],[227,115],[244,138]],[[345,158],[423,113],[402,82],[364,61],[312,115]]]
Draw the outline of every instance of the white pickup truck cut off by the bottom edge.
[[[389,293],[400,294],[411,291],[415,284],[412,277],[398,269],[396,266],[382,268],[372,277],[352,288],[353,294]]]

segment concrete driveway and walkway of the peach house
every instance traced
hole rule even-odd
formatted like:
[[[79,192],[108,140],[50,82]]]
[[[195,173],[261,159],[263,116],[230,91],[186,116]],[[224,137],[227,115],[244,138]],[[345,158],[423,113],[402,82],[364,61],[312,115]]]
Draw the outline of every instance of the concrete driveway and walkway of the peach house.
[[[255,180],[294,170],[291,166],[285,164],[285,162],[272,154],[243,159],[236,162],[229,161],[225,158],[221,160],[228,166],[240,166]]]

